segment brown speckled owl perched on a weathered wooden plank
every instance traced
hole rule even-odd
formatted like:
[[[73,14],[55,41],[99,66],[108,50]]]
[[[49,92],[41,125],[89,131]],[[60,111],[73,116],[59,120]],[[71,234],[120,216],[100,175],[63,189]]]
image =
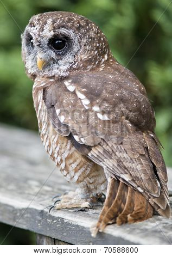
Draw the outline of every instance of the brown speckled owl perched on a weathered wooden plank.
[[[22,35],[22,59],[44,148],[77,186],[55,209],[91,208],[107,190],[93,236],[110,223],[169,217],[154,109],[103,32],[78,14],[38,14]]]

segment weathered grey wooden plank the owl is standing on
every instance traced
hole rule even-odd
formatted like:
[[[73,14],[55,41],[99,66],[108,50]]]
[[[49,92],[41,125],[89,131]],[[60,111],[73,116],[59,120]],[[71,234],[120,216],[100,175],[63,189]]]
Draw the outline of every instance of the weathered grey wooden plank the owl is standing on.
[[[86,212],[52,210],[52,197],[74,190],[49,159],[39,135],[0,126],[0,222],[75,245],[169,245],[172,222],[161,216],[135,224],[116,224],[91,237],[101,206]],[[168,170],[172,192],[172,171]],[[53,240],[54,241],[54,240]],[[0,241],[1,243],[1,241]]]

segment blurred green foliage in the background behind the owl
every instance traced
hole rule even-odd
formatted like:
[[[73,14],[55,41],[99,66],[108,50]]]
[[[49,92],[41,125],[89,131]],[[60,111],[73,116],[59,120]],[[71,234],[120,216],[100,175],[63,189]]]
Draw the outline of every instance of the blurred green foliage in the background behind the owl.
[[[165,148],[163,152],[165,161],[172,166],[170,157],[172,4],[162,15],[170,3],[169,0],[5,0],[3,2],[22,30],[34,14],[54,10],[73,11],[97,23],[107,36],[117,60],[127,65],[145,85],[155,108],[156,132]],[[1,121],[37,129],[31,99],[32,82],[24,73],[21,60],[21,31],[14,20],[0,4]],[[155,22],[157,24],[151,31]],[[146,35],[148,37],[145,39]]]

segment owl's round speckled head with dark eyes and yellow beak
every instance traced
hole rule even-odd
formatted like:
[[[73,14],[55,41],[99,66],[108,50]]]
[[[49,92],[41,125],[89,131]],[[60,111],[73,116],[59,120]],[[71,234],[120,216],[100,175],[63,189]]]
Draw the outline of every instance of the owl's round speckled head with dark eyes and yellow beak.
[[[105,35],[90,20],[54,11],[33,16],[22,34],[27,75],[67,77],[104,65],[110,56]]]

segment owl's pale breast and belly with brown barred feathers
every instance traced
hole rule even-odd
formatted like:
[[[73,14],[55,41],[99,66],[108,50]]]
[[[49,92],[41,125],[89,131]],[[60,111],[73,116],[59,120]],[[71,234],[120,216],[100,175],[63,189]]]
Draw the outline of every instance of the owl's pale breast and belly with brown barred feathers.
[[[67,181],[78,185],[82,196],[104,191],[107,180],[102,167],[79,154],[70,139],[61,136],[53,127],[48,117],[47,107],[43,101],[43,88],[50,86],[42,80],[35,80],[33,87],[34,107],[39,124],[42,143],[50,158],[60,167]]]

